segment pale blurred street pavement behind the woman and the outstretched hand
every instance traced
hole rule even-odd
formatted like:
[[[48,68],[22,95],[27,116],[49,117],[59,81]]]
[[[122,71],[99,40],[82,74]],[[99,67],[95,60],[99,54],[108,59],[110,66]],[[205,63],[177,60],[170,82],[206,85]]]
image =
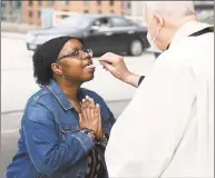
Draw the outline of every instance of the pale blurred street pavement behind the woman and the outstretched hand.
[[[3,177],[6,166],[17,150],[17,139],[22,110],[28,98],[38,90],[32,77],[32,52],[26,48],[26,36],[1,32],[1,169]],[[82,87],[98,92],[108,103],[117,118],[135,93],[135,88],[120,82],[105,71],[94,58],[97,66],[95,79]],[[144,52],[140,57],[125,57],[131,71],[146,75],[153,67],[155,57]]]

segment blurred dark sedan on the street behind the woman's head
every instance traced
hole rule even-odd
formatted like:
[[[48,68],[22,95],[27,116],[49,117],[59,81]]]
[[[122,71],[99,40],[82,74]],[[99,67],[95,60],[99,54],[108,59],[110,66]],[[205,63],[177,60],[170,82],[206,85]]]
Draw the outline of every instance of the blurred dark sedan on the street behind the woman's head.
[[[29,31],[27,49],[36,50],[38,46],[59,36],[78,37],[94,50],[94,55],[107,51],[140,56],[147,41],[147,28],[116,14],[79,13],[62,19],[51,28]]]

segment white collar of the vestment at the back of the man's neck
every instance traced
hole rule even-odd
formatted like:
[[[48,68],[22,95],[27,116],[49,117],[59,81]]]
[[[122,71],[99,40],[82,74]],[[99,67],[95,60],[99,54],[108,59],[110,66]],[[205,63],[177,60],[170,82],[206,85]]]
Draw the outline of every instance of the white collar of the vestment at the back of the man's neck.
[[[207,23],[197,22],[197,21],[187,22],[186,24],[184,24],[176,31],[169,44],[169,48],[174,46],[175,43],[178,43],[180,40],[188,37],[189,34],[196,31],[203,30],[204,28],[207,28],[207,27],[212,27],[212,26]]]

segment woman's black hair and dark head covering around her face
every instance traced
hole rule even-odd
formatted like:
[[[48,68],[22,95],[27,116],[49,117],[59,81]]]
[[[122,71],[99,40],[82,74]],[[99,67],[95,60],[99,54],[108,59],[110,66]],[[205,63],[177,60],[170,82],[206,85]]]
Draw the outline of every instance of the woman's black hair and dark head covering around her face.
[[[53,79],[51,65],[56,62],[62,47],[70,39],[77,39],[84,44],[84,41],[79,38],[63,36],[53,38],[36,49],[32,57],[32,62],[33,77],[36,78],[36,82],[38,85],[46,86],[51,79]]]

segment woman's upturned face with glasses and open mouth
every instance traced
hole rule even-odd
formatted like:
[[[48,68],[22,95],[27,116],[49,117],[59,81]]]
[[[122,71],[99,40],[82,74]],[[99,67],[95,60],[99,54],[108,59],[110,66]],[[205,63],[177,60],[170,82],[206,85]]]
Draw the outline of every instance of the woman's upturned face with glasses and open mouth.
[[[91,56],[79,50],[85,51],[79,40],[67,41],[58,56],[57,62],[52,66],[53,72],[72,82],[79,83],[91,80],[95,72],[95,67],[91,66]]]

